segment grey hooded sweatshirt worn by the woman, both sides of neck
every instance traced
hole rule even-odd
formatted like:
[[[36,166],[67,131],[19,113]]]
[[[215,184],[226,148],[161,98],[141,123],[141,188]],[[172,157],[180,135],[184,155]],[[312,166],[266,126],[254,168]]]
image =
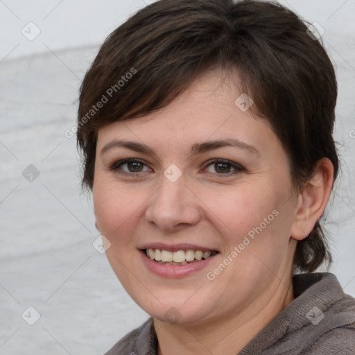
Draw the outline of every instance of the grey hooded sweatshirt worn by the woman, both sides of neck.
[[[355,355],[355,299],[329,272],[293,277],[295,300],[236,355]],[[157,355],[153,318],[105,355]]]

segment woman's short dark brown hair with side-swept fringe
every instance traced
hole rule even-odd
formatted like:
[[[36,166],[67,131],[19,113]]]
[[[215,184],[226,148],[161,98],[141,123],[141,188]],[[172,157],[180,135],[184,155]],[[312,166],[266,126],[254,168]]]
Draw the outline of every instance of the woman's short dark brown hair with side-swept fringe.
[[[107,37],[80,88],[83,187],[93,187],[101,127],[168,105],[211,67],[240,69],[243,92],[286,151],[296,191],[322,157],[334,165],[335,180],[336,76],[307,27],[273,1],[159,0],[139,10]],[[326,259],[331,254],[318,221],[297,243],[295,270],[313,271]]]

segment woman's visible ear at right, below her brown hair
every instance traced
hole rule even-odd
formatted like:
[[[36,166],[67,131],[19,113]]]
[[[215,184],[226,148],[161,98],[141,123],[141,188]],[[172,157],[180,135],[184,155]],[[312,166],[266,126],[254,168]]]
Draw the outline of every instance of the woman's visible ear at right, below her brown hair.
[[[311,180],[306,182],[298,196],[295,219],[291,226],[291,237],[305,239],[327,206],[334,182],[334,166],[328,158],[318,161]]]

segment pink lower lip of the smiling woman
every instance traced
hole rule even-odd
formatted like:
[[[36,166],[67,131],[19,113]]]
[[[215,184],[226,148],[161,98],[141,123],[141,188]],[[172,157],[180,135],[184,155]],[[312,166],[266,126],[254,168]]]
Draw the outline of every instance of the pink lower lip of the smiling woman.
[[[186,265],[164,265],[148,258],[144,251],[140,250],[140,253],[144,265],[148,268],[148,270],[156,275],[165,277],[184,277],[191,275],[193,272],[205,268],[218,255],[217,253],[208,259],[194,261],[193,263],[187,263]]]

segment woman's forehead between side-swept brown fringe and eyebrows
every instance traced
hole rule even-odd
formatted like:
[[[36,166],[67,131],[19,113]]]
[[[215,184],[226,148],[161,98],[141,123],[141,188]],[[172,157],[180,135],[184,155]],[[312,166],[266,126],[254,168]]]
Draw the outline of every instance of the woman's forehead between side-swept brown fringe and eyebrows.
[[[241,93],[238,73],[232,74],[208,71],[166,107],[106,125],[98,132],[98,148],[113,139],[180,149],[209,139],[239,139],[261,149],[275,143],[278,139],[268,120],[256,118],[248,107],[245,110],[252,98]]]

